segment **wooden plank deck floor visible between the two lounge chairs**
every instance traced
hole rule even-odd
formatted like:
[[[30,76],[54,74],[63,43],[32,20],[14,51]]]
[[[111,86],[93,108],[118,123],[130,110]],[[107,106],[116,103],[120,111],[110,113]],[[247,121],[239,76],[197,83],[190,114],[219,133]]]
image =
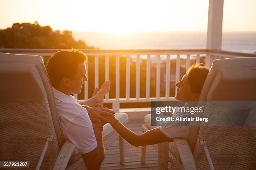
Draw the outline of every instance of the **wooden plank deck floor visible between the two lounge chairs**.
[[[141,121],[129,122],[126,127],[134,133],[142,133]],[[141,164],[141,147],[135,147],[125,141],[125,163],[120,164],[119,140],[116,135],[114,142],[106,148],[105,159],[101,165],[101,170],[157,170],[157,152],[153,145],[147,146],[146,163]]]

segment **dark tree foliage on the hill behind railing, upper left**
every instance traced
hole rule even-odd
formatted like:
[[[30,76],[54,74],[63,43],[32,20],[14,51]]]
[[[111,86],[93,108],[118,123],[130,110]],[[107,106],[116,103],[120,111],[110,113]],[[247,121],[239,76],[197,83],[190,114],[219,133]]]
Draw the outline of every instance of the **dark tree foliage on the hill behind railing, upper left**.
[[[55,48],[95,49],[83,40],[74,40],[72,31],[52,30],[37,22],[14,23],[11,28],[0,30],[0,48]]]

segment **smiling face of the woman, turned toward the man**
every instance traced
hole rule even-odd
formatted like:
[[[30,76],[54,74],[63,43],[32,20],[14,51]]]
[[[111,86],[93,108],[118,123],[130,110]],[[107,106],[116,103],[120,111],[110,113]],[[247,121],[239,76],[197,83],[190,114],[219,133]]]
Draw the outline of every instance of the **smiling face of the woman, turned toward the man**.
[[[180,101],[195,101],[197,96],[191,90],[188,82],[187,73],[182,77],[182,80],[176,83],[177,94],[175,98]]]

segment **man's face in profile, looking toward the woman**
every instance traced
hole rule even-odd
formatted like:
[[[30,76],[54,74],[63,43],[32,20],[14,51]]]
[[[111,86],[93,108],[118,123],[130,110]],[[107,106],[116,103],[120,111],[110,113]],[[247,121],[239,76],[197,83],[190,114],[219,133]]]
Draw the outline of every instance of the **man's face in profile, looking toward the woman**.
[[[70,94],[81,93],[82,85],[87,81],[85,63],[81,62],[77,66],[77,74],[74,76],[74,80],[69,80],[69,92]]]

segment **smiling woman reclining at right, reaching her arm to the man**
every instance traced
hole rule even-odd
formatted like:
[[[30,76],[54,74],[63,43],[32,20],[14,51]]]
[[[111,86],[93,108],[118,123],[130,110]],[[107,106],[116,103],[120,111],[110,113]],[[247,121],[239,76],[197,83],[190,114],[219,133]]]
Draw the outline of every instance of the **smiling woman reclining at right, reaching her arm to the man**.
[[[199,100],[202,86],[205,82],[209,68],[202,63],[197,63],[189,67],[189,70],[182,77],[182,80],[176,83],[177,94],[175,98],[180,101],[186,101],[188,107],[197,107],[195,101]],[[191,102],[190,102],[191,101]],[[194,102],[193,102],[194,101]],[[185,107],[185,106],[184,106]],[[181,116],[180,114],[175,116]],[[184,116],[184,115],[182,115]],[[133,146],[153,145],[162,142],[172,142],[173,138],[187,138],[189,126],[184,125],[161,125],[137,135],[121,124],[115,117],[107,117],[113,128],[128,143]]]

